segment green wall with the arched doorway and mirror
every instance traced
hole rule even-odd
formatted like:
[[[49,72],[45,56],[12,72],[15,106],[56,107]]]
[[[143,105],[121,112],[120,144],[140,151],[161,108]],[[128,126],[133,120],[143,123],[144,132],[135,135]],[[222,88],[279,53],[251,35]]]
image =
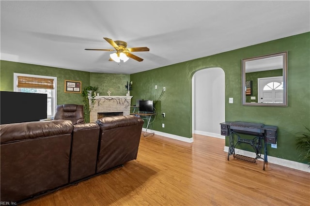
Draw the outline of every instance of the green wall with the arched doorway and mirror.
[[[278,148],[270,148],[268,155],[299,161],[295,150],[295,134],[304,126],[310,127],[310,32],[256,44],[201,59],[131,74],[136,99],[157,100],[162,87],[166,91],[155,105],[157,115],[153,129],[183,137],[192,136],[191,79],[195,72],[220,67],[225,72],[226,121],[248,121],[278,126]],[[288,106],[241,105],[241,59],[288,51]],[[157,85],[158,89],[155,89]],[[208,88],[206,88],[208,89]],[[234,103],[228,103],[229,97]],[[165,128],[161,124],[165,123]],[[226,146],[229,140],[226,137]]]

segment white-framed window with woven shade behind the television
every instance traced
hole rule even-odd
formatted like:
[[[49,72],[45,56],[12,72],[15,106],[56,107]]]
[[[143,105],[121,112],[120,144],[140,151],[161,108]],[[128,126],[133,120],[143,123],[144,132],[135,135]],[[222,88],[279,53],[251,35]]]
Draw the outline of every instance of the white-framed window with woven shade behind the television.
[[[14,73],[14,91],[47,94],[47,117],[54,117],[57,77]]]

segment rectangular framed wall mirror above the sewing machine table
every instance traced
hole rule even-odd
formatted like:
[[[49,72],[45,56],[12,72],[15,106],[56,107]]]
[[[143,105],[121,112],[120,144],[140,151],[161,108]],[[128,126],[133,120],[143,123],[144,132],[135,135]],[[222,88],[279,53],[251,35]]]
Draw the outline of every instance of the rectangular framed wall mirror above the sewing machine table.
[[[242,105],[287,106],[287,52],[242,59]]]

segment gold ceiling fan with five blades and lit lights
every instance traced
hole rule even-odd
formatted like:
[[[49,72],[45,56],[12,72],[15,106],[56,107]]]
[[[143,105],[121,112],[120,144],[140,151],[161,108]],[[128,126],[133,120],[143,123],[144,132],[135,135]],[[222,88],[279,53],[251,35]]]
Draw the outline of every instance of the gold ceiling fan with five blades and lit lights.
[[[140,57],[131,54],[130,52],[141,52],[141,51],[150,51],[148,47],[133,47],[127,48],[127,43],[124,41],[113,41],[107,37],[104,39],[111,44],[114,49],[85,49],[85,50],[94,50],[94,51],[116,51],[113,54],[110,54],[109,61],[116,61],[120,62],[123,60],[124,62],[127,61],[129,58],[135,59],[137,61],[143,61]],[[129,57],[129,58],[128,58]]]

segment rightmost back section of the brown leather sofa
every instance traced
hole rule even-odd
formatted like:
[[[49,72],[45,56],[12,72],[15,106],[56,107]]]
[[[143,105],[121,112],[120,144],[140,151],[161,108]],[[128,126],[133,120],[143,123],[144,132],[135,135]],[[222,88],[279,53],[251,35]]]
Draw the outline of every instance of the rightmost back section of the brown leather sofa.
[[[100,126],[96,173],[137,159],[143,119],[136,116],[104,117]]]

